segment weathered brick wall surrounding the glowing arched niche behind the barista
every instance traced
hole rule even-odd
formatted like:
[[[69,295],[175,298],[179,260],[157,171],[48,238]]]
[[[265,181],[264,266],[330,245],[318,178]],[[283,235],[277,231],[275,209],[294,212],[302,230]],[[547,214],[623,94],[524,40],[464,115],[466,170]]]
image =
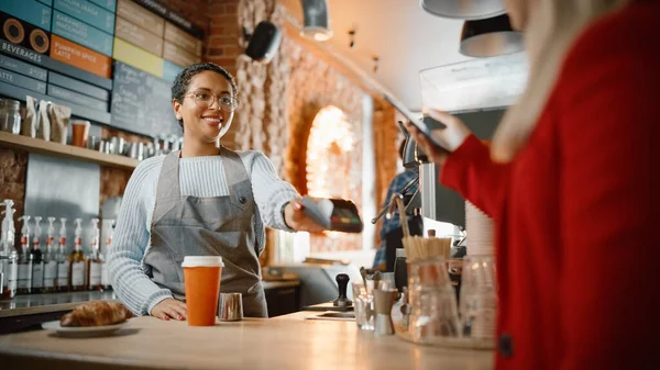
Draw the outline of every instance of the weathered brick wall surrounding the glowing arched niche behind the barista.
[[[273,13],[270,14],[270,11]],[[273,0],[239,1],[240,27],[244,25],[251,30],[264,19],[282,24],[286,16],[286,10]],[[263,152],[279,176],[292,182],[301,194],[307,193],[307,142],[317,113],[326,105],[341,109],[346,120],[354,123],[352,131],[359,135],[355,146],[362,147],[362,123],[367,106],[366,116],[372,117],[372,144],[376,157],[373,169],[375,184],[373,193],[362,197],[381,204],[396,173],[398,132],[391,105],[383,106],[375,101],[373,106],[365,105],[365,99],[371,99],[367,93],[286,35],[267,65],[239,58],[237,79],[241,106],[226,144],[238,149]],[[354,155],[361,153],[354,152]],[[363,215],[365,222],[371,216]]]

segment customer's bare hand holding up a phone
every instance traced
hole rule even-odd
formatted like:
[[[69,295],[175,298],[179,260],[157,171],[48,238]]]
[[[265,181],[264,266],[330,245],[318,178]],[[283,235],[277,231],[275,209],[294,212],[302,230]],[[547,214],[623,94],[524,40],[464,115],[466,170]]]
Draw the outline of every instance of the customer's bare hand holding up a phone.
[[[465,138],[470,136],[471,132],[461,119],[447,112],[430,110],[428,114],[433,120],[442,122],[447,126],[446,128],[433,130],[431,132],[440,146],[427,138],[409,122],[406,123],[406,130],[413,135],[415,142],[417,142],[419,148],[429,157],[430,161],[442,165],[449,157],[449,154],[458,149]]]

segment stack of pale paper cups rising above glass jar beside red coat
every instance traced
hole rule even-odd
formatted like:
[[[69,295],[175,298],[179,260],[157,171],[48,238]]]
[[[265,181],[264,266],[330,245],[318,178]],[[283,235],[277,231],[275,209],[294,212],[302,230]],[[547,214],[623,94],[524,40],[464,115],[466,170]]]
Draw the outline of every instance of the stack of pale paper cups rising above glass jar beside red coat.
[[[468,237],[468,256],[493,256],[494,247],[494,223],[474,204],[465,201],[465,232]]]

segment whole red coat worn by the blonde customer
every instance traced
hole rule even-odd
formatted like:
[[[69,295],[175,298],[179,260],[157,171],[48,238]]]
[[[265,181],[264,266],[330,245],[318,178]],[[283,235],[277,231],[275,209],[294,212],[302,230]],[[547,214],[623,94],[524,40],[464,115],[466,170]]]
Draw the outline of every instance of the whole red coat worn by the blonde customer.
[[[660,369],[659,27],[597,21],[513,162],[471,136],[443,167],[496,221],[498,370]]]

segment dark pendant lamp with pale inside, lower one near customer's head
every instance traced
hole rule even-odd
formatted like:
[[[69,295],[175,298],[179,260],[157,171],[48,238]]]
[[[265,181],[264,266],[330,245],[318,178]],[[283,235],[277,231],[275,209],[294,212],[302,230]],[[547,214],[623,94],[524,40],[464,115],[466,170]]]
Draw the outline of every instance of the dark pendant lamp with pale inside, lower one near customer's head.
[[[465,56],[487,58],[524,49],[522,34],[512,29],[506,14],[463,23],[459,52]]]

